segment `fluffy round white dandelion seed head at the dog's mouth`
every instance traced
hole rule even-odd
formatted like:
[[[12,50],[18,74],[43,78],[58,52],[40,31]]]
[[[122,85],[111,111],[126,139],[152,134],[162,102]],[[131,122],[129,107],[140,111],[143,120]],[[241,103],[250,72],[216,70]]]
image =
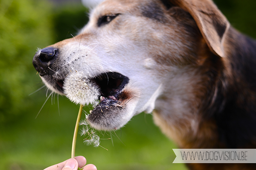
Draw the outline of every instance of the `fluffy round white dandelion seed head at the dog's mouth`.
[[[83,71],[73,71],[64,82],[64,94],[74,103],[88,105],[97,103],[100,91]]]

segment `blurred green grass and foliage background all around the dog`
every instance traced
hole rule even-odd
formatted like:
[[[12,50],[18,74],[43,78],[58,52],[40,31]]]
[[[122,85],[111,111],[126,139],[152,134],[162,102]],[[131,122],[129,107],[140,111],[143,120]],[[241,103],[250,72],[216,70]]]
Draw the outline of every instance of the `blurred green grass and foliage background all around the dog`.
[[[71,2],[0,0],[0,170],[43,170],[71,156],[79,106],[55,95],[35,119],[47,91],[29,95],[43,86],[32,66],[36,48],[70,38],[87,22],[88,10]],[[255,0],[215,3],[235,28],[256,37]],[[102,133],[98,132],[101,138],[110,137]],[[84,145],[79,136],[76,155],[85,156],[99,170],[186,169],[172,164],[177,146],[154,125],[151,114],[134,116],[112,139],[113,144],[101,140],[107,151]]]

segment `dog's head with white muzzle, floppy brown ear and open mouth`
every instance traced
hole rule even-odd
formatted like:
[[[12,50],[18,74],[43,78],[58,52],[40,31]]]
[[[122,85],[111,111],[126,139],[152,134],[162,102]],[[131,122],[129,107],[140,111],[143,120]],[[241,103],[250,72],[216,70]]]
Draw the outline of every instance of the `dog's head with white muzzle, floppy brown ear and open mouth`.
[[[197,62],[199,42],[224,57],[228,27],[210,0],[106,0],[76,37],[39,50],[33,65],[52,91],[81,104],[98,99],[88,122],[113,130],[153,111],[166,79]]]

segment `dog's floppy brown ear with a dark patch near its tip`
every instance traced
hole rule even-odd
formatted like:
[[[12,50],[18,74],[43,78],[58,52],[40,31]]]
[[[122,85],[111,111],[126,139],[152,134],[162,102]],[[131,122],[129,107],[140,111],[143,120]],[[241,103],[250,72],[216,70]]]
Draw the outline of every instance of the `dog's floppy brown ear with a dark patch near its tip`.
[[[224,57],[223,42],[230,23],[212,0],[169,1],[189,12],[194,18],[210,50],[218,56]]]

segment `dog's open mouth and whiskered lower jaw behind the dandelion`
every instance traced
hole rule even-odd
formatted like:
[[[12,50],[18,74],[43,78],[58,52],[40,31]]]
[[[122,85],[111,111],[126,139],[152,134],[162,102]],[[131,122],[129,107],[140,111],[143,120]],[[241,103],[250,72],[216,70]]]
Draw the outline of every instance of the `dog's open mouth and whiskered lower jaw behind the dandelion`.
[[[89,124],[99,130],[121,127],[119,122],[125,116],[126,103],[132,98],[131,93],[125,90],[129,78],[116,72],[107,72],[90,78],[89,81],[99,89],[100,101],[87,117]],[[65,79],[56,81],[55,88],[56,86],[64,94]]]

